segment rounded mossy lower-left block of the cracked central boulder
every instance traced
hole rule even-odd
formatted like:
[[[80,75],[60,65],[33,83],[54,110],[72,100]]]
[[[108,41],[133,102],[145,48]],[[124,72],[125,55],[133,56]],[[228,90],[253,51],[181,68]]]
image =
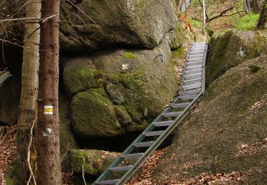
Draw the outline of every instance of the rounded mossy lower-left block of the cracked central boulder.
[[[75,95],[70,110],[78,137],[113,137],[125,133],[117,121],[112,102],[95,90]]]

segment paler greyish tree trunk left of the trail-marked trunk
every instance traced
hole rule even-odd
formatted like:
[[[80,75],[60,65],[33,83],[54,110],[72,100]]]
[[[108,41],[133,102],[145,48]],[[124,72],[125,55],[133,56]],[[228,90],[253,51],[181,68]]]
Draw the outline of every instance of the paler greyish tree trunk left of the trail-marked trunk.
[[[26,17],[41,18],[41,2],[26,4]],[[21,100],[19,103],[18,127],[16,133],[18,176],[21,184],[28,180],[28,144],[31,125],[37,117],[38,68],[39,68],[39,23],[26,23],[24,33],[23,63],[21,75]],[[36,162],[34,146],[31,149],[31,163]],[[34,171],[34,170],[33,170]]]

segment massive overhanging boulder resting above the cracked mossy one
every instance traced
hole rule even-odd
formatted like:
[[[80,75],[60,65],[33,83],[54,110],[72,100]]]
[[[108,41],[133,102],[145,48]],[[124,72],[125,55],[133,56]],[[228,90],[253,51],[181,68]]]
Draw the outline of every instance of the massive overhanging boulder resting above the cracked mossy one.
[[[73,2],[61,1],[63,51],[88,52],[114,45],[155,48],[177,21],[171,0]]]

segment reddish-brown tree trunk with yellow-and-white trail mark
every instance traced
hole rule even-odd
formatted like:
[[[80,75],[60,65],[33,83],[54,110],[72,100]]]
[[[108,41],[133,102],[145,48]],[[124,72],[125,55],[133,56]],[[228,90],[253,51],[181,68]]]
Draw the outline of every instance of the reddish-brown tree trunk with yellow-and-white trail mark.
[[[38,100],[38,185],[61,184],[58,117],[59,0],[42,1]]]

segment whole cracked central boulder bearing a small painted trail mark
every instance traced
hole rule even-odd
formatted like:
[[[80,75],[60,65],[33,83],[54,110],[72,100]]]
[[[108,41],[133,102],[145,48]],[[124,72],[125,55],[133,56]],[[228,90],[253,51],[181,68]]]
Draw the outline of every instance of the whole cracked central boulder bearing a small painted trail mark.
[[[170,55],[164,41],[153,50],[66,59],[63,80],[76,136],[114,137],[147,127],[177,90]]]

